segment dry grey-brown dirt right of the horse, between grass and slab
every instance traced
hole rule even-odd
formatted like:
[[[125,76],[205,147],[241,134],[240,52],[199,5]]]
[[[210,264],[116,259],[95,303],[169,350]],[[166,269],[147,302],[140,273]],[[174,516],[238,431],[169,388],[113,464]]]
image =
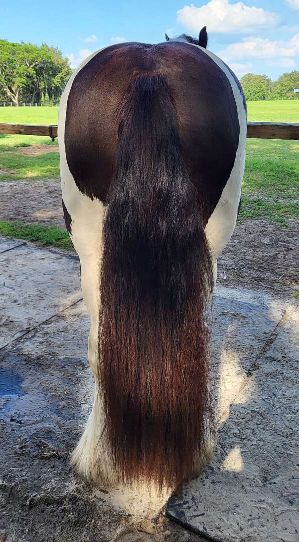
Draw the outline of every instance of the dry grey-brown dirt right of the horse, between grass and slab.
[[[299,221],[237,224],[218,264],[218,283],[277,295],[299,291]]]

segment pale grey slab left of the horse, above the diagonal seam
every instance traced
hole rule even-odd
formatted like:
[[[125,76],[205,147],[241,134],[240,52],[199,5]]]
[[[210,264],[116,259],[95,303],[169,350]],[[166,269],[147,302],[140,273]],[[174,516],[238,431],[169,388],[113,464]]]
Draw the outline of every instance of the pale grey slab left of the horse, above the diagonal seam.
[[[0,348],[82,299],[76,260],[16,240],[3,246],[10,250],[0,254]]]

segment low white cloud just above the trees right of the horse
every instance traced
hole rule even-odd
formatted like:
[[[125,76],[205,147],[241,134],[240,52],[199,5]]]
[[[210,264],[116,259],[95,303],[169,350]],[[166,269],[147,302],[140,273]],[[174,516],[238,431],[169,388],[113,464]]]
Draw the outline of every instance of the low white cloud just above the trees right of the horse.
[[[299,53],[299,34],[288,41],[271,41],[262,37],[245,37],[242,42],[231,43],[217,52],[225,62],[245,59],[271,59],[292,57]]]

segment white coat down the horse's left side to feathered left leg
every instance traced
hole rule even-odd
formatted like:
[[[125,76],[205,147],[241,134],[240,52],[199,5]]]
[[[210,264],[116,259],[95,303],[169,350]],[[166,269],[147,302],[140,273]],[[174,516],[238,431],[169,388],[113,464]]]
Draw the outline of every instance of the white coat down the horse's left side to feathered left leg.
[[[102,49],[100,49],[102,50]],[[70,77],[61,96],[59,107],[59,150],[61,189],[64,205],[72,217],[72,242],[80,258],[81,288],[90,315],[88,361],[96,376],[98,370],[98,340],[100,311],[100,265],[102,257],[102,229],[105,209],[99,199],[84,195],[70,173],[64,143],[67,101],[74,79],[80,70],[96,55],[90,55]],[[93,409],[85,431],[72,454],[72,463],[87,478],[95,478],[101,466],[101,483],[115,485],[116,480],[105,440],[101,392],[95,384]]]

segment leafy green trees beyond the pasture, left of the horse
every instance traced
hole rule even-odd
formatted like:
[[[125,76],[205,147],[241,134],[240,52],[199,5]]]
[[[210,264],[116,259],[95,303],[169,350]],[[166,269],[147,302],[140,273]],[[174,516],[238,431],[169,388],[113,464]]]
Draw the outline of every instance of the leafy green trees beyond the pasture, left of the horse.
[[[32,105],[44,94],[57,100],[71,73],[59,49],[0,40],[0,95],[15,106],[20,97]]]

